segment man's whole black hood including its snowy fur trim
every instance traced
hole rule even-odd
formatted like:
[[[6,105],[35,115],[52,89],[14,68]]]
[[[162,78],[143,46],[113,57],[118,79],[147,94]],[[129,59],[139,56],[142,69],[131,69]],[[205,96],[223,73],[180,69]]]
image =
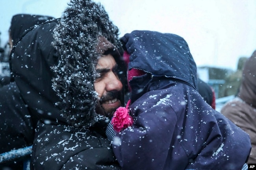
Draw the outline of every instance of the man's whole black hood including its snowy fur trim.
[[[91,0],[71,0],[61,18],[28,31],[11,58],[15,81],[28,107],[44,120],[74,127],[94,124],[98,37],[104,36],[121,50],[118,32],[102,5]],[[114,58],[124,65],[121,56]],[[125,70],[119,72],[123,82]]]

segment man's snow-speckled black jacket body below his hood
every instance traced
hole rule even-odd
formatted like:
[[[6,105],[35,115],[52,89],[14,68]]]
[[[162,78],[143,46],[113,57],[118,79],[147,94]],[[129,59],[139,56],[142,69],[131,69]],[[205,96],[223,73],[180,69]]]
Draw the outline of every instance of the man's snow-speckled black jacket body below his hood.
[[[89,129],[39,124],[30,169],[120,170],[104,129],[104,120]]]

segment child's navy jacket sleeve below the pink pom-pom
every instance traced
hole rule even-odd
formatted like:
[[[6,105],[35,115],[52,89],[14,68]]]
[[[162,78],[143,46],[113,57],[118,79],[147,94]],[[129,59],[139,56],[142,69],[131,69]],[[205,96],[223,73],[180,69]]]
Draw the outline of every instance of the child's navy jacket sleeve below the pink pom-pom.
[[[161,169],[172,141],[176,113],[169,105],[147,103],[135,114],[132,127],[114,137],[115,156],[123,169]]]

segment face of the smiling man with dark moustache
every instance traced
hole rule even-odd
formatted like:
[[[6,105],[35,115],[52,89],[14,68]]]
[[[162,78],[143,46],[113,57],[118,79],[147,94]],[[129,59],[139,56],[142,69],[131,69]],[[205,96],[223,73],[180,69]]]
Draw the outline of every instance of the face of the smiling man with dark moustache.
[[[94,82],[99,101],[96,113],[111,118],[113,112],[121,106],[119,97],[121,95],[122,83],[117,76],[117,63],[111,54],[99,58],[96,71],[100,77]]]

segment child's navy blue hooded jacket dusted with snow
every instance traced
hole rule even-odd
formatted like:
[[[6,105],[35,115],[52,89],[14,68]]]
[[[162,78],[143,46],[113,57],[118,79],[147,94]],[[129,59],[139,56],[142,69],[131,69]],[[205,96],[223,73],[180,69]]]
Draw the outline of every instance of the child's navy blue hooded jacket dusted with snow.
[[[128,69],[147,72],[129,81],[134,124],[112,143],[122,168],[241,170],[249,136],[198,93],[186,41],[154,31],[133,31],[121,40],[130,54]]]

